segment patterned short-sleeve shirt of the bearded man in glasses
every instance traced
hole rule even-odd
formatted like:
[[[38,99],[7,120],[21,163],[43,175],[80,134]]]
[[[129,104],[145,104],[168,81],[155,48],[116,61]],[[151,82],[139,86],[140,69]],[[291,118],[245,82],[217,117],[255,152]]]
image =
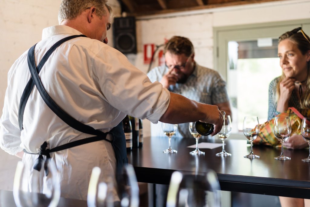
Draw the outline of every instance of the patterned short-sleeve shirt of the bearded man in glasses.
[[[160,81],[168,70],[167,67],[160,66],[151,70],[147,75],[152,82]],[[202,67],[197,63],[193,74],[188,77],[186,83],[171,85],[169,91],[206,104],[214,105],[229,101],[226,82],[221,75],[217,71]],[[151,123],[151,135],[163,136],[160,122],[158,124]],[[192,137],[188,130],[188,123],[179,124],[176,135],[178,137]]]

